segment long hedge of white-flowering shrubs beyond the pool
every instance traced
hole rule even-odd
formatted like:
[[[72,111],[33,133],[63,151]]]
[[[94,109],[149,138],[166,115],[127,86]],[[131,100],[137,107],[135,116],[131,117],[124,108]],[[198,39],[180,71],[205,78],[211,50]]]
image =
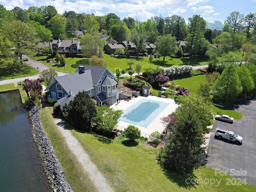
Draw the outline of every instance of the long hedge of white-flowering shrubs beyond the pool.
[[[182,66],[172,66],[169,68],[162,68],[158,69],[158,72],[162,75],[171,76],[174,74],[183,74],[183,73],[190,73],[193,70],[192,65],[182,65]]]

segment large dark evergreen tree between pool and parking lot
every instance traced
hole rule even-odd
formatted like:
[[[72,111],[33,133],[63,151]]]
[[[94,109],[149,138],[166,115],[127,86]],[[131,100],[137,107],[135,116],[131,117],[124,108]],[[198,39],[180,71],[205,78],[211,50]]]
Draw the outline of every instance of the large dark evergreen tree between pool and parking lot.
[[[177,114],[169,142],[161,148],[158,160],[166,169],[191,174],[202,157],[204,138],[201,119],[194,111],[182,110]]]

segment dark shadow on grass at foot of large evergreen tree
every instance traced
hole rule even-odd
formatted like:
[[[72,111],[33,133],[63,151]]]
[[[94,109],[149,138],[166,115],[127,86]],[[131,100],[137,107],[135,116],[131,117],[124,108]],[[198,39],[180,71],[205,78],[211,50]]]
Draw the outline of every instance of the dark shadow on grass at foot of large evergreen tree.
[[[174,172],[173,170],[163,170],[165,176],[172,182],[176,183],[178,186],[186,189],[196,188],[198,184],[196,183],[197,177],[194,174],[182,175]]]

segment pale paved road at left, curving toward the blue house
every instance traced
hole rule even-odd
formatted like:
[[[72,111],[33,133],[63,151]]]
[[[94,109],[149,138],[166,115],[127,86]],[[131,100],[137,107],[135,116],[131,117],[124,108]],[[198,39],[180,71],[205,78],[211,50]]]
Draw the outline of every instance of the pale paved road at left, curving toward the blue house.
[[[40,63],[39,61],[36,61],[36,60],[33,60],[33,59],[29,58],[28,56],[23,56],[23,58],[28,59],[28,61],[26,61],[25,63],[34,67],[35,69],[37,69],[38,74],[36,74],[34,76],[29,76],[29,77],[21,77],[21,78],[15,78],[15,79],[1,80],[0,85],[20,82],[20,81],[24,81],[25,79],[37,79],[37,78],[39,78],[40,72],[42,72],[42,70],[46,70],[46,69],[50,68],[47,65]],[[63,75],[66,74],[66,73],[59,72],[59,71],[56,71],[56,72],[58,73],[58,76],[63,76]]]

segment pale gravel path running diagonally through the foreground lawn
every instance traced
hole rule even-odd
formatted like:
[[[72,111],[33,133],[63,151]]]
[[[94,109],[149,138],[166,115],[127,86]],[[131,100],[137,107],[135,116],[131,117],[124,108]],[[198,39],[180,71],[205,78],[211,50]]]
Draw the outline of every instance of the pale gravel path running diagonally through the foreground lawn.
[[[65,129],[65,123],[62,120],[55,120],[61,134],[64,136],[68,148],[76,156],[80,162],[84,171],[88,174],[90,180],[99,192],[114,192],[110,187],[104,176],[99,172],[96,165],[90,160],[88,154],[84,151],[78,140],[70,133],[68,129]]]

